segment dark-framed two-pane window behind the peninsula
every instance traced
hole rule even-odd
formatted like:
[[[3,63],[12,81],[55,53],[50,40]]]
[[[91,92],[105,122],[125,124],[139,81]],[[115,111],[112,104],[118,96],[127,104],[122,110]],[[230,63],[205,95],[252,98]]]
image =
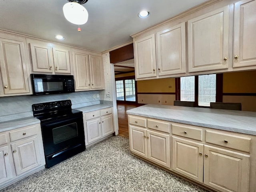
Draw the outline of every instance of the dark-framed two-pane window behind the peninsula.
[[[180,100],[210,106],[210,102],[216,102],[216,82],[216,74],[181,77]]]

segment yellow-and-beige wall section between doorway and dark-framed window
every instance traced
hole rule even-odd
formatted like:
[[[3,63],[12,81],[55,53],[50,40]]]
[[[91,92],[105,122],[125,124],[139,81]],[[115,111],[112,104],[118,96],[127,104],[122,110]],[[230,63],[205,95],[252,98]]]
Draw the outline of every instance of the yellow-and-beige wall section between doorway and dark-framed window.
[[[138,103],[173,105],[175,78],[137,81]]]

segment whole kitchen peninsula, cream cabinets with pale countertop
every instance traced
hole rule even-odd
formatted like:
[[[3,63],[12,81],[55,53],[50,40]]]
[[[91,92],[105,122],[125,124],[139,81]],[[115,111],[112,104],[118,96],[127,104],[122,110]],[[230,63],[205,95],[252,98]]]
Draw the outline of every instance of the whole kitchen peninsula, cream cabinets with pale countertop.
[[[255,192],[256,112],[148,104],[127,111],[130,150],[221,192]]]

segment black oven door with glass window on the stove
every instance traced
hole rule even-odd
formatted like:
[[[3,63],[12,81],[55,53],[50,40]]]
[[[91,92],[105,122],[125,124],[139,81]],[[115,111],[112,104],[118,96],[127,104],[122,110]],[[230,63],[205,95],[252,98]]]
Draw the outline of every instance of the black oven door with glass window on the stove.
[[[77,146],[85,149],[82,114],[73,115],[41,124],[45,156],[72,150]]]

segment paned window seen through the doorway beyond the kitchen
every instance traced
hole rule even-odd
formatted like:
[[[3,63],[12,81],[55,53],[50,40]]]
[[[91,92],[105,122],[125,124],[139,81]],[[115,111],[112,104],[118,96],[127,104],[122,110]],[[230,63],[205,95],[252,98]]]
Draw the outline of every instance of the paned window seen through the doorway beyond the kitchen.
[[[135,79],[116,80],[116,100],[136,101]]]

